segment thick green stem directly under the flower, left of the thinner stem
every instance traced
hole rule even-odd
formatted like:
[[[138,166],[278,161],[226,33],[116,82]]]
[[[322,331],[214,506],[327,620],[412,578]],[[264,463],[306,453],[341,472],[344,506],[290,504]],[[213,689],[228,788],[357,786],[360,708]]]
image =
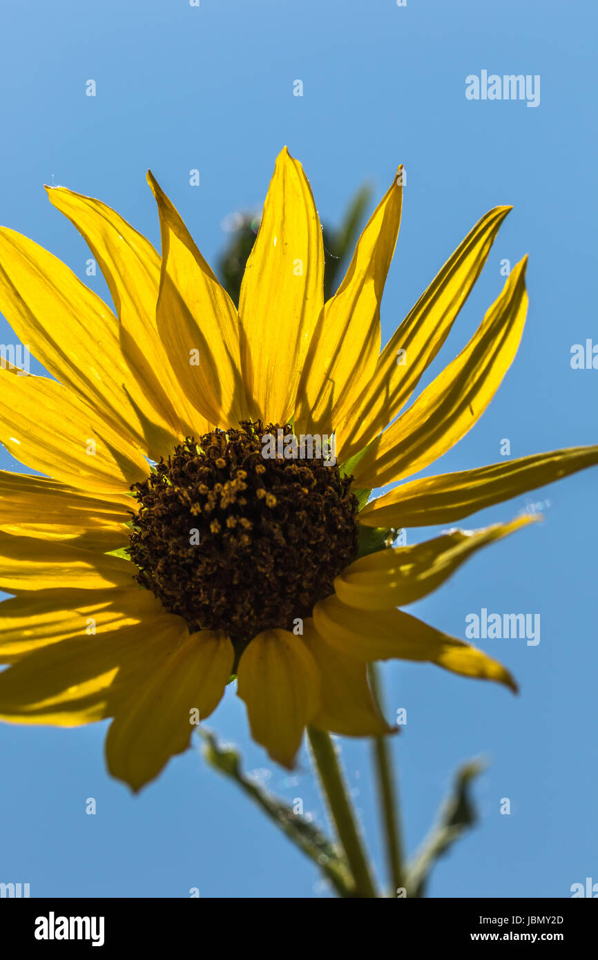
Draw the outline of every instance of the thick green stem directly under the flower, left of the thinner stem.
[[[376,897],[370,867],[348,800],[347,785],[334,744],[328,733],[314,727],[308,727],[307,735],[334,826],[355,882],[355,896]]]

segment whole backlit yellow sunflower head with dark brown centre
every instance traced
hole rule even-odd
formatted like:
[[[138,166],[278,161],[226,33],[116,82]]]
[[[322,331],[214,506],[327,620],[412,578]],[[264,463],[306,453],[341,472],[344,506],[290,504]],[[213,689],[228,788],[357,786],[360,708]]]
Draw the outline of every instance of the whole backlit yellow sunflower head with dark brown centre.
[[[370,500],[456,444],[514,359],[525,259],[401,413],[510,207],[470,230],[380,351],[400,168],[324,303],[318,212],[283,150],[238,311],[148,180],[161,257],[107,205],[48,188],[114,312],[51,253],[0,230],[0,308],[53,377],[0,370],[2,442],[36,471],[0,478],[0,587],[13,594],[1,608],[0,716],[112,718],[108,769],[136,790],[187,748],[235,676],[253,738],[287,767],[306,725],[391,732],[372,700],[372,660],[425,660],[514,688],[501,664],[399,608],[534,517],[413,546],[394,546],[395,532],[450,524],[595,464],[598,447],[427,476]]]

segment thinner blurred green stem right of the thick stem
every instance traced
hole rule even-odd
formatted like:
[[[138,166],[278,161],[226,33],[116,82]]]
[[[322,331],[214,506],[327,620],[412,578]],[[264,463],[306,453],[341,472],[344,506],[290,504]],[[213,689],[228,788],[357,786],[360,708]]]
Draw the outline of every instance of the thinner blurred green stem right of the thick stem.
[[[370,676],[371,694],[380,713],[383,713],[377,664],[370,663],[368,672]],[[397,887],[403,887],[405,885],[403,870],[404,859],[401,831],[397,815],[398,791],[393,776],[393,761],[388,737],[376,736],[373,738],[373,756],[376,779],[378,781],[380,813],[386,834],[386,856],[389,872],[393,880],[393,891],[395,893]]]

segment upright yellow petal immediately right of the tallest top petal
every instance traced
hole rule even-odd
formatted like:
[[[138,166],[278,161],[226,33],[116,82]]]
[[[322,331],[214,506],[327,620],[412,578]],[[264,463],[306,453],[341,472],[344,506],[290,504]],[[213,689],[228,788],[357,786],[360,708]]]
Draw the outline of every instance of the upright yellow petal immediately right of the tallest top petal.
[[[299,382],[296,423],[301,429],[331,433],[375,371],[380,353],[380,301],[400,225],[400,171],[399,167],[371,214],[347,276],[324,305],[316,324]]]

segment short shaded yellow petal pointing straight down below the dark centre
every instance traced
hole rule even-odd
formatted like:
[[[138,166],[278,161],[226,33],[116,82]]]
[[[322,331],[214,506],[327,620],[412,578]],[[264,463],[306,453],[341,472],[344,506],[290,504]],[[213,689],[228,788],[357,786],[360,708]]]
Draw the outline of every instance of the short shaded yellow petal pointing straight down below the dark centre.
[[[253,637],[237,670],[251,736],[273,760],[293,767],[305,725],[320,700],[320,674],[300,636],[265,630]]]

